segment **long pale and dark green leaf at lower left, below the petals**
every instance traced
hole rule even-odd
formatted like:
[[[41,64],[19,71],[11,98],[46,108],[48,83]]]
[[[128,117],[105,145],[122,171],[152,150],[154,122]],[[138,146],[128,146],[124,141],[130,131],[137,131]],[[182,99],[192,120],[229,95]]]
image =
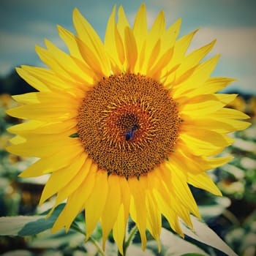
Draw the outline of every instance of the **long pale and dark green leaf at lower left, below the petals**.
[[[45,219],[45,216],[16,216],[0,218],[0,236],[33,236],[53,227],[54,222],[64,208],[59,205],[53,214]]]

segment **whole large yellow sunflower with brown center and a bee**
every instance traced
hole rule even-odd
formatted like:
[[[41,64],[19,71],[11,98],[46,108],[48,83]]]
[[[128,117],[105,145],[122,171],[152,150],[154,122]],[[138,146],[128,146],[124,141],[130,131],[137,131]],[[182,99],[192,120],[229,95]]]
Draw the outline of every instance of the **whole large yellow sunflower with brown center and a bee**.
[[[49,68],[17,68],[38,92],[14,96],[23,105],[7,113],[30,120],[8,129],[7,150],[39,158],[21,177],[50,173],[40,204],[67,200],[54,232],[85,209],[86,238],[100,222],[103,248],[113,230],[123,254],[129,217],[143,249],[146,230],[159,244],[162,216],[184,236],[178,218],[200,218],[189,185],[221,195],[206,170],[230,161],[214,156],[249,124],[225,108],[235,94],[216,94],[234,80],[210,78],[219,55],[202,61],[215,40],[186,54],[197,30],[177,39],[181,19],[166,29],[162,11],[148,31],[145,4],[132,27],[122,7],[115,20],[116,7],[102,42],[75,9],[77,35],[58,26],[69,53],[46,39],[36,51]]]

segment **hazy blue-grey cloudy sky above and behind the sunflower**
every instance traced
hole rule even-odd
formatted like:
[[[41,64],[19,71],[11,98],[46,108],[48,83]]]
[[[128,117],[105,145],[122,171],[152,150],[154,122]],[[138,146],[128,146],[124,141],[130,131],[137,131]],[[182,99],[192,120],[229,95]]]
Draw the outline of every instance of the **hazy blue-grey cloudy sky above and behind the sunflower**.
[[[0,75],[7,75],[20,64],[42,65],[34,45],[48,38],[60,48],[56,24],[74,31],[72,11],[78,7],[103,39],[114,4],[122,4],[130,23],[140,4],[146,3],[150,26],[160,10],[167,26],[182,18],[180,35],[200,28],[190,50],[212,39],[217,44],[210,56],[221,53],[214,76],[238,78],[230,86],[256,94],[256,1],[255,0],[1,0],[0,1]]]

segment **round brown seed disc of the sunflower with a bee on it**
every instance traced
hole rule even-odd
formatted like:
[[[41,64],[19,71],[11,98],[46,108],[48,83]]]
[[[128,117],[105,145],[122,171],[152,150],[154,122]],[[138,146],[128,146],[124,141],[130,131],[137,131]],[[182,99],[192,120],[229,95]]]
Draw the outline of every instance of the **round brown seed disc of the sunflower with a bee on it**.
[[[109,174],[148,173],[173,151],[179,124],[176,102],[144,75],[112,75],[86,92],[78,135],[89,157]]]

